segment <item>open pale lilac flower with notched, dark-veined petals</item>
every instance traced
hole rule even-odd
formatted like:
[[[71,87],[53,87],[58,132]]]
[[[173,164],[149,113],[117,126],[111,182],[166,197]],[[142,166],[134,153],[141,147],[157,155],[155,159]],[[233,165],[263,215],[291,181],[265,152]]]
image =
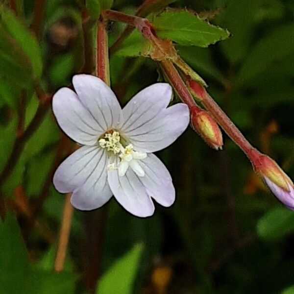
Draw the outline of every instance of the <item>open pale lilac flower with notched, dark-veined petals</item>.
[[[130,213],[151,216],[151,197],[163,206],[175,199],[172,178],[151,152],[174,142],[189,124],[187,105],[167,106],[169,84],[147,87],[121,108],[111,89],[98,77],[73,77],[75,92],[62,88],[53,97],[53,112],[63,131],[83,145],[53,177],[60,193],[73,192],[80,210],[105,204],[112,195]],[[184,156],[184,154],[183,154]]]

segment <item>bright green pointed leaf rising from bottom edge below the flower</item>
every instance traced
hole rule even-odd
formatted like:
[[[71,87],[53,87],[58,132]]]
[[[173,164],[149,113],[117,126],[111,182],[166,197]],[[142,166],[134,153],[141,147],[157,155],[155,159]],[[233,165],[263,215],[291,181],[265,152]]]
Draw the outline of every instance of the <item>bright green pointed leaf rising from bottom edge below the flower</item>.
[[[97,294],[131,294],[143,251],[143,245],[135,245],[120,258],[98,281]]]

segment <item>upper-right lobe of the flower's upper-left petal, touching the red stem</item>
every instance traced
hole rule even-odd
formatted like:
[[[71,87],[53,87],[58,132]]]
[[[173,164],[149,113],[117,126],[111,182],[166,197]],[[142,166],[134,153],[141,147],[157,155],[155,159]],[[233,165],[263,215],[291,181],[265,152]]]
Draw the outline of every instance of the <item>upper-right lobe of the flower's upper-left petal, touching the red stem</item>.
[[[112,90],[98,77],[89,74],[73,76],[73,87],[81,103],[105,131],[123,123],[123,112]]]

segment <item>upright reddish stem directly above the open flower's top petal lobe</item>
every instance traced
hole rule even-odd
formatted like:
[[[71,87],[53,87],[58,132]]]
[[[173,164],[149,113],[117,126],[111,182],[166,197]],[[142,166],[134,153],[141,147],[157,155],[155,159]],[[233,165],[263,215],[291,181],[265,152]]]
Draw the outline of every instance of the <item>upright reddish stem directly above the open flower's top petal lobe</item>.
[[[108,61],[108,35],[103,21],[98,21],[96,38],[96,73],[97,76],[110,86]]]

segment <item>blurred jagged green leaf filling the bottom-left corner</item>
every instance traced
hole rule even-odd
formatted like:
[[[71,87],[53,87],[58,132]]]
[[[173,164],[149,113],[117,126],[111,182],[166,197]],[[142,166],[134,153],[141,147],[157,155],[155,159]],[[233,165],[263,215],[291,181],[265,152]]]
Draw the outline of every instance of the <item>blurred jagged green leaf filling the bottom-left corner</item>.
[[[68,266],[64,272],[53,272],[52,250],[39,263],[29,262],[17,221],[12,214],[7,215],[5,222],[0,222],[0,236],[1,294],[74,293],[77,275]]]

